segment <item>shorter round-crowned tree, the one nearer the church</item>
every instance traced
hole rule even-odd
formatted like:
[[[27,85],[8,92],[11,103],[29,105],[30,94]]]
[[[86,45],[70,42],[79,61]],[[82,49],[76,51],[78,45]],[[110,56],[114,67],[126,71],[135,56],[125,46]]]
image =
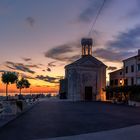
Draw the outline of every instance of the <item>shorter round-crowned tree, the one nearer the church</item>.
[[[30,83],[27,79],[22,78],[21,80],[17,81],[16,86],[19,89],[19,94],[21,95],[21,90],[23,88],[29,88],[30,87]]]

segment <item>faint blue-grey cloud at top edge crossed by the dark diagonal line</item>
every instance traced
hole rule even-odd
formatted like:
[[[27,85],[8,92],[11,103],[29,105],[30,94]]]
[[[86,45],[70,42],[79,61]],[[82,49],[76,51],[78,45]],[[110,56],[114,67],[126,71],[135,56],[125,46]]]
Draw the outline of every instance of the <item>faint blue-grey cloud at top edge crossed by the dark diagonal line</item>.
[[[102,11],[104,9],[107,9],[112,1],[113,0],[105,0],[105,5]],[[78,16],[78,21],[91,22],[93,18],[96,16],[102,4],[103,0],[88,0],[88,6]]]

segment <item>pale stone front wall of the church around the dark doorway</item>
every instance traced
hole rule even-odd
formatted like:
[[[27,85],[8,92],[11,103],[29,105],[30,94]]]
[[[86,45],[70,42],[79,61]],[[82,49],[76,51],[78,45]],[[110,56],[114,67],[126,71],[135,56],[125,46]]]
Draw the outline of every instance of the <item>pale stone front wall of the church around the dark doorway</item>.
[[[105,100],[106,68],[72,67],[67,70],[68,99],[85,99],[85,87],[92,87],[93,100]]]

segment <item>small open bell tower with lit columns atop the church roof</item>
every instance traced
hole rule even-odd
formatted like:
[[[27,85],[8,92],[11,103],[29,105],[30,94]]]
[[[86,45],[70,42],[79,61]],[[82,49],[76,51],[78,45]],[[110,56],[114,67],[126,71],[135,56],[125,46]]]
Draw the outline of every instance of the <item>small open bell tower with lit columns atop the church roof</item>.
[[[93,45],[92,38],[82,38],[81,45],[82,45],[82,57],[89,55],[92,56],[92,45]]]

